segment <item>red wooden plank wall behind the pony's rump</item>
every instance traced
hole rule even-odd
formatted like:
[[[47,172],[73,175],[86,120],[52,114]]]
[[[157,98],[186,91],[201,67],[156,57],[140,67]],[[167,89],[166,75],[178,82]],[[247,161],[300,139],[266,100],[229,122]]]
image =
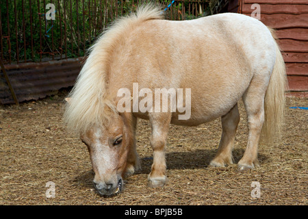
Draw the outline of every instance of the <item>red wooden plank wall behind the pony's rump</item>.
[[[251,16],[254,3],[260,5],[261,21],[277,29],[290,91],[307,92],[308,0],[239,0],[238,12]]]

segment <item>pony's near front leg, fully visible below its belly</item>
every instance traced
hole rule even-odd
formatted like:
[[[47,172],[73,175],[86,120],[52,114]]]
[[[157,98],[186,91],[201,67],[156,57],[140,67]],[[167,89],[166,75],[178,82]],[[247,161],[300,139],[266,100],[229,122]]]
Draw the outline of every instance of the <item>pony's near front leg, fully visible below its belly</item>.
[[[170,113],[153,113],[149,115],[152,127],[151,146],[153,149],[153,165],[148,181],[149,187],[162,187],[166,183],[166,141],[171,120]]]

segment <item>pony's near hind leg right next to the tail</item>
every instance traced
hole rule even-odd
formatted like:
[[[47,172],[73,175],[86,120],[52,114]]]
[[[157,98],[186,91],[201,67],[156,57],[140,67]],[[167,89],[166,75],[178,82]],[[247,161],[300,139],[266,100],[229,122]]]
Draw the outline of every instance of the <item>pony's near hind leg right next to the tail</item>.
[[[268,86],[265,75],[253,78],[243,96],[247,113],[248,140],[246,151],[238,162],[239,170],[245,171],[259,166],[257,159],[259,138],[264,123],[264,96]]]

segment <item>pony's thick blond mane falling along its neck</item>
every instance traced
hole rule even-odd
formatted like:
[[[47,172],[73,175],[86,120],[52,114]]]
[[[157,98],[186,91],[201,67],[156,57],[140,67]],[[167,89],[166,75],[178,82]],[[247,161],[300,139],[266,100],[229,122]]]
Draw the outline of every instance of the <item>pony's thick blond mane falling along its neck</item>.
[[[143,5],[135,14],[118,18],[89,49],[88,59],[81,69],[73,90],[68,94],[64,123],[77,135],[87,131],[92,125],[100,125],[109,120],[114,103],[108,99],[106,86],[108,66],[112,48],[125,31],[151,19],[162,19],[162,10],[153,5]]]

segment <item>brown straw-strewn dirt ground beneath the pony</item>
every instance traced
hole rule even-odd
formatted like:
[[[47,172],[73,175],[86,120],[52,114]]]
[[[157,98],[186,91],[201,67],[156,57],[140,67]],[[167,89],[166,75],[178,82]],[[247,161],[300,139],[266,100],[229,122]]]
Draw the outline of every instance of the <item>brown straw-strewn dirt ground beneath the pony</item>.
[[[148,188],[152,151],[150,127],[139,120],[138,153],[142,170],[125,181],[123,193],[104,198],[93,188],[86,146],[68,136],[62,124],[66,92],[40,101],[0,105],[0,205],[307,205],[307,98],[287,98],[285,132],[279,144],[260,144],[261,166],[238,172],[237,164],[209,167],[220,140],[220,119],[198,127],[171,126],[166,149],[168,183]],[[244,153],[246,114],[233,156]],[[47,183],[55,197],[47,198]],[[257,181],[259,198],[253,198]],[[255,194],[255,193],[253,193]]]

